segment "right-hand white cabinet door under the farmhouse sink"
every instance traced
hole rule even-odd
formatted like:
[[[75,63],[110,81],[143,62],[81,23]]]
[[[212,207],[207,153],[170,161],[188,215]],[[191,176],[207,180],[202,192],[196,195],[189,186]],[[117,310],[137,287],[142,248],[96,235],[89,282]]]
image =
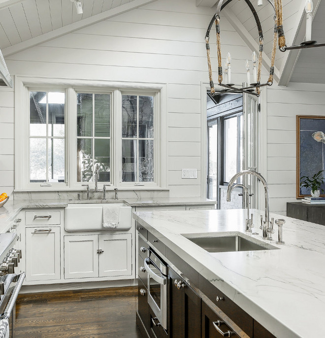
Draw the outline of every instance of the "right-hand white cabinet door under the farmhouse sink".
[[[99,277],[132,274],[132,235],[99,235]]]

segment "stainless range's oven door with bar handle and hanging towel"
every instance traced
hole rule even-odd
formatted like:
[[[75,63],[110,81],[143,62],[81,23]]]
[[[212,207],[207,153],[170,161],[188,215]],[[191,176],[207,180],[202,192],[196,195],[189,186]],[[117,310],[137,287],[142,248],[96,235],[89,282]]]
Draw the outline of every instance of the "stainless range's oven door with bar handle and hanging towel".
[[[15,338],[15,304],[24,279],[25,272],[0,277],[0,338]]]

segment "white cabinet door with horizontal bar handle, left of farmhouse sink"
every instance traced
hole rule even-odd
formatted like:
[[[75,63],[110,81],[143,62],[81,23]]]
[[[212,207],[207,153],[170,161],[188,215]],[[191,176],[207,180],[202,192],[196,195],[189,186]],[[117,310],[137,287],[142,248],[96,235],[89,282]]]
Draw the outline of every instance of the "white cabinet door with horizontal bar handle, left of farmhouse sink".
[[[60,227],[26,228],[26,281],[60,279]]]

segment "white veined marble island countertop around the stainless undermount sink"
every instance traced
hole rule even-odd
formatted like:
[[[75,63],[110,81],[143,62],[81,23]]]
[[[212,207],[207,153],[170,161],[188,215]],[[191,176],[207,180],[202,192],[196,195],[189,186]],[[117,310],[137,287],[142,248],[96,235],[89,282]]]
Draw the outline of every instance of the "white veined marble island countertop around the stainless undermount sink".
[[[253,210],[259,220],[263,211]],[[260,222],[244,232],[247,211],[136,212],[133,218],[279,338],[319,337],[325,315],[325,227],[284,218],[284,245],[263,240]],[[245,234],[279,250],[209,253],[182,234]],[[244,236],[245,236],[244,235]],[[254,239],[252,239],[254,241]]]

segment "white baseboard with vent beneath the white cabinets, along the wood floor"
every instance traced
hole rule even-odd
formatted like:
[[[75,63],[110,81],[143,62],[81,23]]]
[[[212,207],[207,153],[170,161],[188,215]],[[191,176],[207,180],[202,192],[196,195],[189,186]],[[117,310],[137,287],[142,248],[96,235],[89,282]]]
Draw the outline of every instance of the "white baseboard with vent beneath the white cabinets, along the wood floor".
[[[137,279],[126,280],[107,280],[97,282],[80,282],[80,283],[58,283],[58,284],[41,284],[41,285],[23,285],[20,293],[65,291],[65,290],[84,290],[84,289],[100,289],[114,288],[123,286],[136,286]]]

